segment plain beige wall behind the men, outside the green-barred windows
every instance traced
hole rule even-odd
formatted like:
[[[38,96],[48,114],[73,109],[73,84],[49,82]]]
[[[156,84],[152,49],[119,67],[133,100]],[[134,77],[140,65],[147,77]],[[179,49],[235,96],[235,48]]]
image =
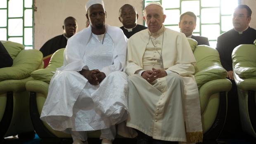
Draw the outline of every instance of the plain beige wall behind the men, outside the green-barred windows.
[[[78,21],[78,31],[85,28],[85,3],[88,0],[35,0],[35,49],[40,47],[50,38],[63,33],[62,25],[66,17],[75,17]],[[122,26],[119,17],[119,8],[128,3],[133,5],[139,14],[138,24],[142,20],[142,0],[104,0],[107,11],[106,24]],[[252,10],[250,26],[256,29],[256,0],[241,0]],[[230,21],[231,22],[231,21]]]

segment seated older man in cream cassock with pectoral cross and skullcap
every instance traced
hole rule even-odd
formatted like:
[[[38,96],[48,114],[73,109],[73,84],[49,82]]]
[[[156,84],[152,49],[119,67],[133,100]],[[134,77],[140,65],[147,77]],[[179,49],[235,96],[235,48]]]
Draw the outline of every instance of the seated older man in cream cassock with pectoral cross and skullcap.
[[[201,142],[196,60],[183,33],[166,28],[163,7],[150,2],[143,19],[148,28],[128,40],[129,117],[137,144]]]

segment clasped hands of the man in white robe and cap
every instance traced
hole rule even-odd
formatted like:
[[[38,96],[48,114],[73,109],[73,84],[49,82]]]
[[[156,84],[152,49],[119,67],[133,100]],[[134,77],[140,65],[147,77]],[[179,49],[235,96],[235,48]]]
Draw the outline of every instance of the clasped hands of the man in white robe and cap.
[[[99,71],[98,69],[82,69],[82,71],[79,71],[79,73],[83,75],[91,85],[99,85],[100,82],[106,78],[105,73]]]

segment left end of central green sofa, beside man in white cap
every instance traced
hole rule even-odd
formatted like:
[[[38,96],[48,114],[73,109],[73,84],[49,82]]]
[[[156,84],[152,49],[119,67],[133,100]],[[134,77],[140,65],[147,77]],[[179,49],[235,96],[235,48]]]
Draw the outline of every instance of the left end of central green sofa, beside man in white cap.
[[[47,123],[40,120],[43,104],[45,103],[50,80],[56,68],[63,65],[64,48],[57,50],[51,57],[49,65],[44,69],[33,71],[33,80],[26,83],[26,90],[30,92],[30,113],[34,129],[40,138],[71,137],[64,132],[53,130]]]

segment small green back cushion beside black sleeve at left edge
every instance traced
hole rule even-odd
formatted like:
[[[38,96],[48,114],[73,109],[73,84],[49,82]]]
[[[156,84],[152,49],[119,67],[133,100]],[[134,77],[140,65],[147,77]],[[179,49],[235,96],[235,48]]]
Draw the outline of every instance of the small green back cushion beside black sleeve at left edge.
[[[17,57],[19,52],[21,50],[25,49],[24,45],[21,45],[21,44],[16,43],[16,42],[11,42],[11,41],[7,41],[7,42],[3,43],[3,45],[5,46],[5,49],[10,54],[12,59],[15,59],[15,57]]]

